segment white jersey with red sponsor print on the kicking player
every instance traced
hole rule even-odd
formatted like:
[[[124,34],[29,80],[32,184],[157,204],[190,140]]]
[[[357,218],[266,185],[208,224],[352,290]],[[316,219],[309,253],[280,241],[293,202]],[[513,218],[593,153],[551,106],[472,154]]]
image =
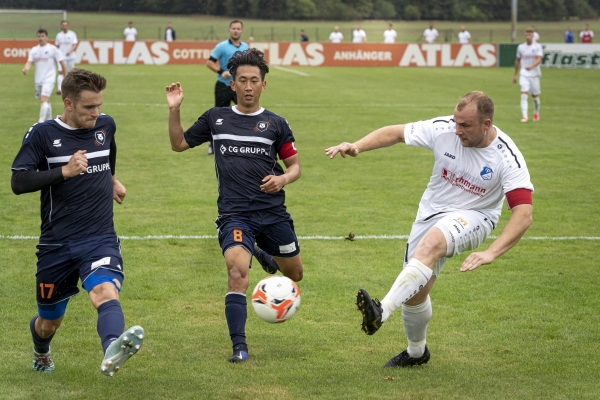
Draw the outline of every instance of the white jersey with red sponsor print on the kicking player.
[[[417,221],[443,212],[475,210],[496,225],[507,192],[519,188],[533,191],[523,155],[510,137],[494,128],[494,141],[478,149],[463,147],[451,115],[405,126],[405,143],[425,147],[435,157]]]

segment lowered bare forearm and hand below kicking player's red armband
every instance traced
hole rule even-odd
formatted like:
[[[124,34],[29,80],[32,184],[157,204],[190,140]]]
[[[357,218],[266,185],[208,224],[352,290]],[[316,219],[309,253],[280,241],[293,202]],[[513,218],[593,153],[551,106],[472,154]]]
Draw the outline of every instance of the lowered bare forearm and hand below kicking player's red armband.
[[[533,206],[531,204],[519,204],[513,207],[512,215],[500,236],[487,250],[471,253],[461,265],[460,271],[472,271],[481,265],[491,264],[519,242],[532,222]]]

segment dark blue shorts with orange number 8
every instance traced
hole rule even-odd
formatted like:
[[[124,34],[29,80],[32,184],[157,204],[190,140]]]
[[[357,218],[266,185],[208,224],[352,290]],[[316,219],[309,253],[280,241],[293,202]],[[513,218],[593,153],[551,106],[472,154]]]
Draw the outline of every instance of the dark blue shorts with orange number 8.
[[[254,254],[254,242],[271,256],[292,258],[300,254],[294,221],[287,212],[251,211],[219,215],[215,225],[223,254],[235,246],[243,246]]]

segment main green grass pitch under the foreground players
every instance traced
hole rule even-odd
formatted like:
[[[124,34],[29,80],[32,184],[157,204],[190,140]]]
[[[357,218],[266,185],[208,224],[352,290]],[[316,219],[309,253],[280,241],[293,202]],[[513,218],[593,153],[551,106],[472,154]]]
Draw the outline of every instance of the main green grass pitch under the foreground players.
[[[9,184],[10,165],[39,111],[33,78],[21,68],[0,65],[0,398],[600,396],[598,71],[544,70],[542,120],[522,124],[512,69],[291,68],[308,76],[273,69],[261,104],[286,117],[296,137],[303,176],[286,188],[296,232],[337,239],[300,240],[300,310],[285,324],[269,325],[249,309],[251,359],[232,365],[226,362],[226,269],[217,240],[131,238],[215,235],[213,159],[205,146],[170,150],[164,98],[166,84],[182,82],[187,127],[212,105],[214,74],[202,65],[93,66],[108,79],[102,111],[117,122],[116,173],[128,189],[124,204],[115,205],[117,232],[126,237],[121,300],[126,324],[147,332],[141,352],[106,378],[99,371],[96,311],[86,294],[71,301],[52,342],[56,370],[31,369],[37,242],[8,238],[39,234],[39,194],[17,197]],[[354,296],[359,287],[379,298],[387,293],[405,240],[343,236],[407,235],[433,158],[404,145],[345,160],[329,160],[324,149],[383,125],[451,114],[459,97],[474,89],[495,101],[495,124],[527,160],[534,222],[492,265],[460,273],[467,254],[450,260],[431,295],[431,361],[384,370],[406,346],[400,313],[366,336]],[[58,97],[51,101],[60,113]],[[264,276],[255,266],[251,288]]]

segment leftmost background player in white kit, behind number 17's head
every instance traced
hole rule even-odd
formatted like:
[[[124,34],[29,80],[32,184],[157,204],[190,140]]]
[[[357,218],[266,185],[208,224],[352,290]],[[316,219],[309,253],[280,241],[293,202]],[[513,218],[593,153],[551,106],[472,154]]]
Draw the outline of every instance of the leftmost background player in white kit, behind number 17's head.
[[[40,118],[38,122],[52,119],[52,106],[50,95],[54,90],[56,79],[56,64],[62,66],[62,74],[65,75],[67,66],[63,60],[62,53],[56,46],[48,43],[48,31],[39,29],[37,31],[38,45],[31,48],[29,58],[23,67],[23,75],[31,69],[35,63],[35,97],[40,99]]]

